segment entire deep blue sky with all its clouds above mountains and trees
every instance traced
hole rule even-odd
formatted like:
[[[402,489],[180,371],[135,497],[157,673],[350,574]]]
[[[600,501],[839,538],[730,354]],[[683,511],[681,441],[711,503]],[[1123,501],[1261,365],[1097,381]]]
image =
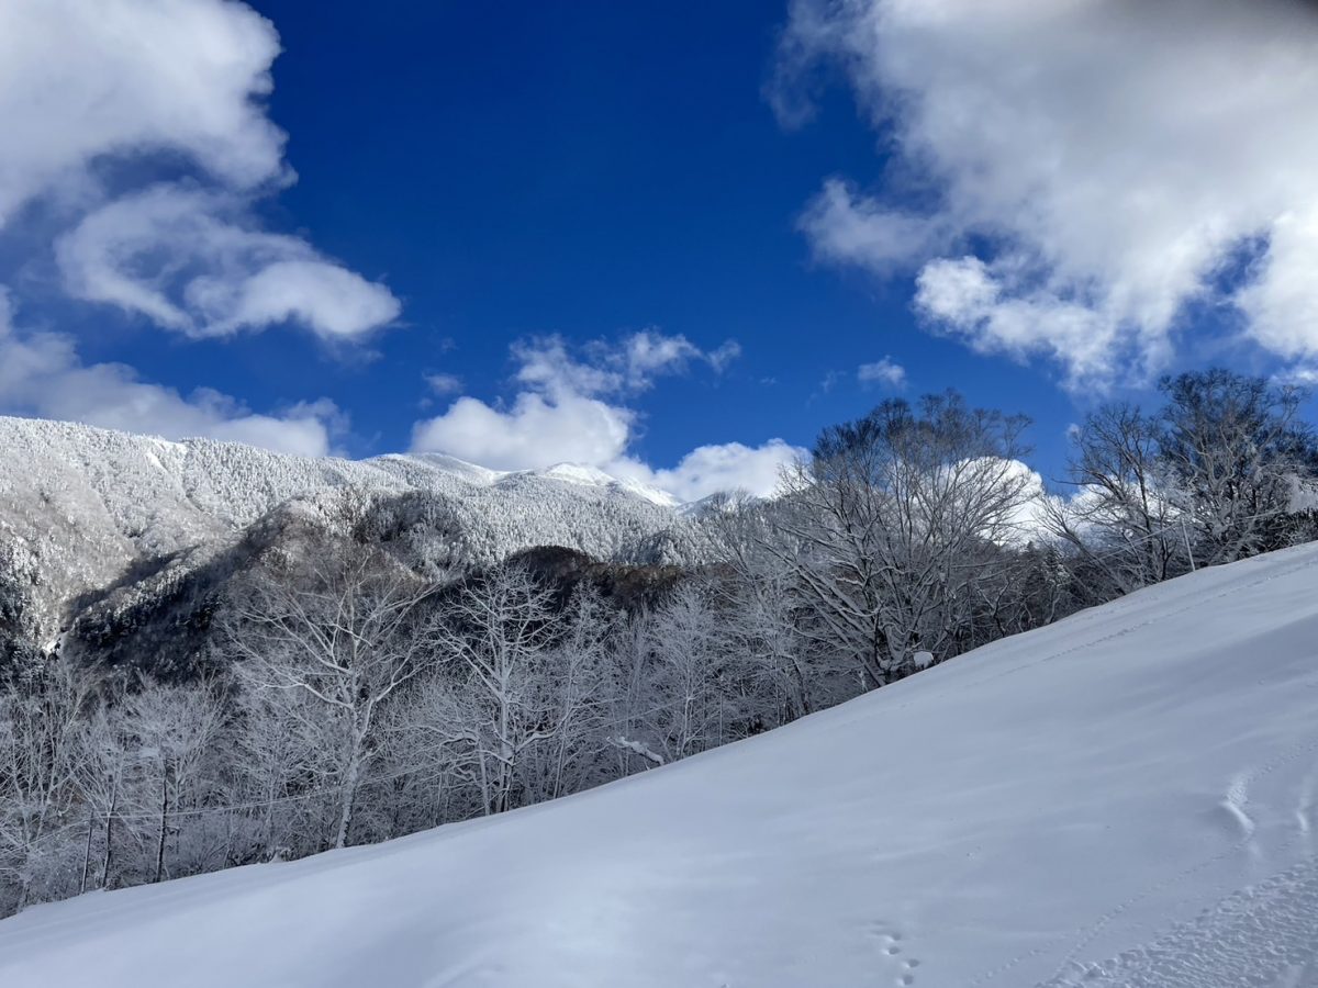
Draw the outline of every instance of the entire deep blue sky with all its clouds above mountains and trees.
[[[0,14],[5,411],[696,495],[888,395],[1023,411],[1053,477],[1159,373],[1311,375],[1286,0],[78,7]]]

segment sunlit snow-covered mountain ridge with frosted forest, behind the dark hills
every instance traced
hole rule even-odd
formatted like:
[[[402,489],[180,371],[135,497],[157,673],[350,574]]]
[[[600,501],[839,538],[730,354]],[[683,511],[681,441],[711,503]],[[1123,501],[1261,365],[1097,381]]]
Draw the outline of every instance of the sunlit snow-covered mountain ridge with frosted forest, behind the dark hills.
[[[272,511],[293,508],[328,526],[387,519],[472,563],[532,545],[623,563],[691,563],[705,552],[700,526],[673,498],[590,468],[306,458],[0,418],[0,580],[21,589],[43,636],[88,595],[142,573],[177,582]]]

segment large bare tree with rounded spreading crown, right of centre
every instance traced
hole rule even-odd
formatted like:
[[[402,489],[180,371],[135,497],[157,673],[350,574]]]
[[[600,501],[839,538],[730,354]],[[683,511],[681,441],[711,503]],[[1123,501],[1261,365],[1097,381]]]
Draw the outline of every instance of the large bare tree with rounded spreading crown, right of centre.
[[[1006,540],[1029,490],[1027,420],[956,394],[902,400],[826,429],[786,478],[767,543],[799,581],[812,634],[857,663],[862,689],[971,638],[981,547]]]

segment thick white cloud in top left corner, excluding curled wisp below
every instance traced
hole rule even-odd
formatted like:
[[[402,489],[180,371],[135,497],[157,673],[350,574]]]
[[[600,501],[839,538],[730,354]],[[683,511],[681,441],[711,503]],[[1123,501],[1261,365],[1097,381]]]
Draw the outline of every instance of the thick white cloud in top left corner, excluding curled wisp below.
[[[274,26],[227,0],[0,5],[0,225],[101,157],[186,154],[240,188],[285,178],[265,116]]]

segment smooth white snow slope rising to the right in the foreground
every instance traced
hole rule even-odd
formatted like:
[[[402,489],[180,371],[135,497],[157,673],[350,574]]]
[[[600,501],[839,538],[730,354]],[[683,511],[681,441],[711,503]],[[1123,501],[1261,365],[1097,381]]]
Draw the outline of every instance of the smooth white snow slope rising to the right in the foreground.
[[[38,906],[0,985],[1318,985],[1318,545],[721,751]]]

